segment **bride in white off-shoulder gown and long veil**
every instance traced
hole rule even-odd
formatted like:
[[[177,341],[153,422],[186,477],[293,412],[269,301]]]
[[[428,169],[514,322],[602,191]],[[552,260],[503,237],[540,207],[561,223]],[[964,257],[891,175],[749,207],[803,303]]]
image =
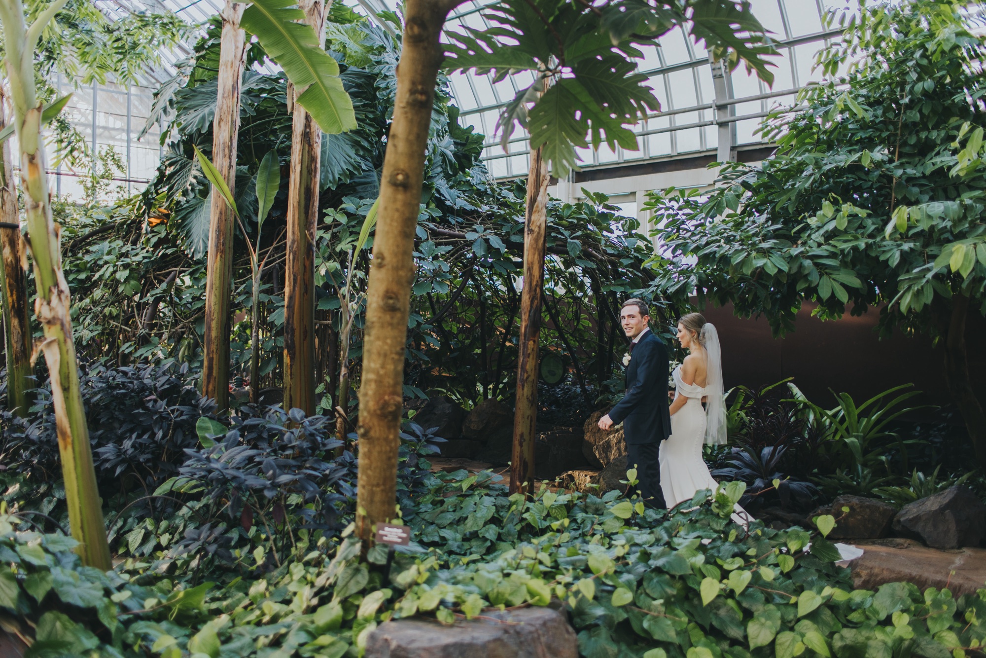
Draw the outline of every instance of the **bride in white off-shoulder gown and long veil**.
[[[669,509],[691,500],[699,489],[716,490],[719,483],[702,460],[702,444],[726,443],[719,334],[702,314],[689,313],[678,321],[677,339],[688,355],[672,373],[671,434],[661,443],[659,456],[661,488]],[[737,505],[733,520],[745,526],[751,518]]]

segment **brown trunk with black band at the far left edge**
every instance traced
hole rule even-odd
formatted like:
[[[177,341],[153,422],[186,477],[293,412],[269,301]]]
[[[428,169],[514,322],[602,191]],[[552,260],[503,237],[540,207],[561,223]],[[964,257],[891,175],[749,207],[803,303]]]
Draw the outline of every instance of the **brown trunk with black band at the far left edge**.
[[[0,85],[0,124],[7,124],[6,98]],[[21,246],[20,212],[17,208],[17,188],[14,186],[13,159],[10,140],[3,143],[3,169],[0,170],[0,248],[3,267],[0,268],[0,294],[3,296],[4,341],[7,347],[7,408],[19,416],[28,414],[35,388],[31,379],[31,323],[28,320],[28,277],[24,271],[27,259]]]

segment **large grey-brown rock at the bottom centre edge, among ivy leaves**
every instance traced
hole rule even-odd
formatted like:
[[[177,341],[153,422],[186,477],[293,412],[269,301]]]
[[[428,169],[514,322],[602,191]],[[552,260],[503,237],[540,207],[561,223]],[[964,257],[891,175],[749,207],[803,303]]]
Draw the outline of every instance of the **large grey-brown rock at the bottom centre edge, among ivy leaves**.
[[[578,658],[575,631],[556,610],[491,611],[483,617],[448,626],[385,621],[367,638],[367,658]]]

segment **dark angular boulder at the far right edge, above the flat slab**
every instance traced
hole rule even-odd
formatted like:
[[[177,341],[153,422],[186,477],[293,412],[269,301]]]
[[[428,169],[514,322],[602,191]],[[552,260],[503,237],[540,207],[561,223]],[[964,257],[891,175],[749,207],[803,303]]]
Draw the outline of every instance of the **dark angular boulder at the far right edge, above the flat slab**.
[[[986,505],[969,489],[950,486],[905,505],[893,531],[932,548],[977,547],[986,531]]]

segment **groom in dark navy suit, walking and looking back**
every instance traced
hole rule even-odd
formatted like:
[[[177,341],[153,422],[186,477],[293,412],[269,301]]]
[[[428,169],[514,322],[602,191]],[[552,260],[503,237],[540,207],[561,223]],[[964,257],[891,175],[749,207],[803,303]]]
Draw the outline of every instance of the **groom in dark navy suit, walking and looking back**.
[[[647,304],[628,299],[620,310],[623,331],[631,339],[626,365],[626,395],[599,418],[600,429],[623,423],[627,467],[637,467],[641,495],[654,507],[667,507],[661,491],[658,451],[671,433],[668,411],[668,349],[648,327]]]

